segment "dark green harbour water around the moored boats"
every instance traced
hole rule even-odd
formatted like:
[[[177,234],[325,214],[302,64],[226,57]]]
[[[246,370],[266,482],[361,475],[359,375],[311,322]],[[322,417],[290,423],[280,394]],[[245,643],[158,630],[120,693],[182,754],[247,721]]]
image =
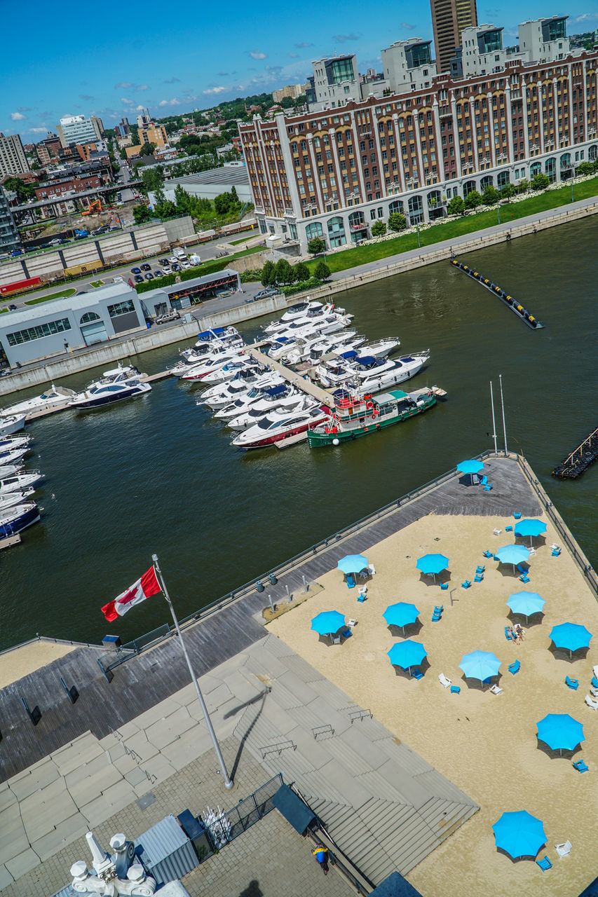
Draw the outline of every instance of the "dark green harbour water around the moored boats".
[[[598,466],[573,483],[550,470],[598,422],[597,237],[591,217],[463,257],[521,300],[545,325],[538,332],[447,262],[344,295],[370,338],[398,335],[405,352],[429,346],[427,370],[410,382],[448,392],[444,404],[371,439],[239,454],[230,431],[196,406],[200,388],[174,379],[123,405],[35,422],[29,466],[47,475],[45,514],[22,545],[0,553],[0,647],[36,632],[125,640],[166,622],[160,597],[111,626],[100,611],[153,552],[180,616],[192,613],[491,448],[488,382],[496,399],[499,373],[509,448],[523,448],[595,563]],[[146,353],[143,370],[163,369],[177,348]],[[77,388],[94,373],[66,382]]]

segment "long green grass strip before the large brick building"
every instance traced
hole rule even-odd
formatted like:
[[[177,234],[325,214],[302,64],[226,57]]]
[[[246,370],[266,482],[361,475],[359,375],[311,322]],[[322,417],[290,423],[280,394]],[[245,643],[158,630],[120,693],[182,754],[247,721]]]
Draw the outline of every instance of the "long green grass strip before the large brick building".
[[[598,178],[575,184],[573,189],[576,200],[597,196]],[[521,202],[502,204],[500,206],[500,221],[505,224],[516,221],[518,218],[525,218],[527,215],[546,212],[549,209],[556,209],[561,205],[569,205],[570,203],[570,185],[559,187],[558,190],[544,190]],[[495,207],[486,212],[469,213],[463,217],[451,218],[437,227],[420,231],[419,239],[422,246],[431,246],[434,243],[443,242],[445,239],[454,239],[474,231],[483,231],[484,228],[492,227],[493,224],[497,223],[498,213]],[[365,265],[366,262],[399,255],[401,252],[407,252],[409,249],[415,248],[418,248],[418,234],[409,232],[398,236],[396,239],[386,239],[383,242],[372,243],[369,246],[359,246],[353,249],[345,249],[343,252],[331,253],[326,256],[326,264],[329,266],[330,271],[345,271],[347,268]],[[320,260],[320,258],[311,259],[307,263],[310,270]]]

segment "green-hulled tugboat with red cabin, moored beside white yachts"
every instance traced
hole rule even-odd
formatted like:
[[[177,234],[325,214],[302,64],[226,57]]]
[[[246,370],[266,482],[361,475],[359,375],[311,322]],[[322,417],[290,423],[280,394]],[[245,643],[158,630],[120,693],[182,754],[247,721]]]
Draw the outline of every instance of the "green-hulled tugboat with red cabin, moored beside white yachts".
[[[409,393],[391,389],[375,398],[369,394],[363,398],[345,394],[335,399],[334,408],[324,422],[310,427],[307,441],[310,448],[336,446],[405,421],[435,403],[435,394],[428,388]]]

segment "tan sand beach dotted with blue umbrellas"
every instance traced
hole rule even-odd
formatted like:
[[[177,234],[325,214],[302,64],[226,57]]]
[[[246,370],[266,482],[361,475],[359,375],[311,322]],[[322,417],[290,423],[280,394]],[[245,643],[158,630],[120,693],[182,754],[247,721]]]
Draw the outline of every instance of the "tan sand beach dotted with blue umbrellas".
[[[409,881],[426,897],[576,897],[598,875],[593,862],[598,713],[584,702],[598,663],[598,604],[565,548],[558,558],[551,557],[549,546],[559,539],[550,523],[546,537],[534,540],[537,553],[530,558],[527,585],[511,566],[484,559],[485,549],[522,541],[505,532],[513,524],[513,518],[422,518],[366,553],[376,574],[365,603],[357,602],[356,589],[347,589],[342,574],[333,570],[321,577],[321,592],[268,624],[479,804],[478,814],[409,873]],[[493,535],[495,527],[502,530],[500,536]],[[418,557],[428,552],[449,557],[448,591],[416,569]],[[473,580],[479,563],[486,564],[483,582],[461,588],[463,579]],[[543,616],[537,614],[529,623],[509,616],[506,606],[509,595],[523,589],[546,599]],[[391,632],[382,614],[398,601],[413,603],[420,611],[420,623],[406,631],[407,638],[427,649],[429,666],[424,662],[419,681],[391,666],[386,656],[402,640],[402,632]],[[431,622],[435,605],[444,605],[438,623]],[[310,629],[312,617],[326,610],[338,610],[347,620],[357,618],[353,636],[342,645],[330,645]],[[505,626],[515,621],[526,630],[517,645],[505,638]],[[549,638],[553,625],[566,622],[583,623],[596,633],[590,648],[573,659],[551,648]],[[501,694],[462,677],[462,655],[476,649],[493,651],[502,661]],[[521,669],[511,675],[507,666],[515,658]],[[461,693],[444,689],[440,673],[460,685]],[[567,688],[565,675],[579,680],[576,692]],[[547,713],[569,713],[583,723],[585,742],[573,756],[563,752],[560,757],[538,742],[536,723]],[[590,771],[580,774],[572,759],[582,757]],[[548,853],[553,863],[548,872],[530,859],[513,862],[497,851],[492,823],[503,812],[523,809],[544,823],[546,847],[538,856]],[[555,844],[567,839],[573,849],[567,858],[558,858]]]

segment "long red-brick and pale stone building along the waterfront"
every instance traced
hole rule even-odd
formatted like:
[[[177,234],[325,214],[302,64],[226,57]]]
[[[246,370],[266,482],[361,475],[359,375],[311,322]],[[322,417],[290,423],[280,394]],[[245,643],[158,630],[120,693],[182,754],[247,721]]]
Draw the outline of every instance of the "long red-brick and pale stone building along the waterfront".
[[[598,157],[598,52],[341,108],[239,122],[262,233],[330,247],[365,238],[392,212],[444,217],[453,196],[532,179],[568,179]]]

